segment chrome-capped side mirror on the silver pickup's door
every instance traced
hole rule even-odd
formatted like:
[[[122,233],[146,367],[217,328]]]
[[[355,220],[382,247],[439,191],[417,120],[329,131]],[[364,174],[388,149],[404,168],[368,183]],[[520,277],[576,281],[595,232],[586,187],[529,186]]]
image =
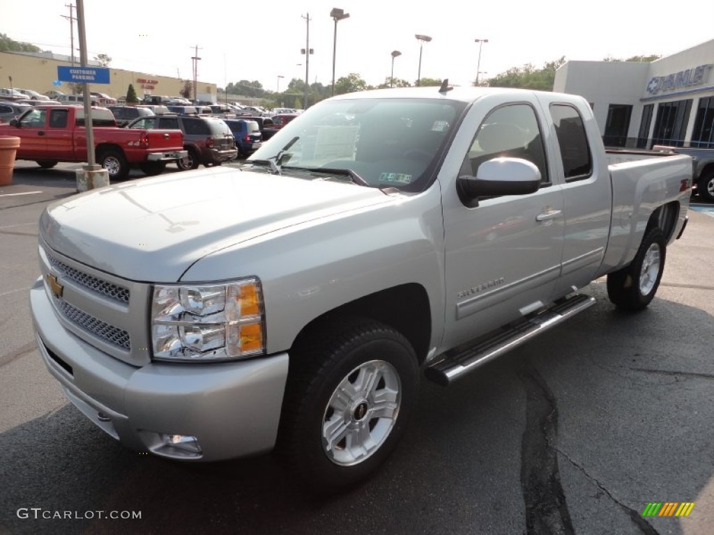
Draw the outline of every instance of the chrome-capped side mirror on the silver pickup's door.
[[[493,158],[478,166],[476,176],[458,177],[456,185],[463,196],[471,199],[527,195],[538,191],[540,170],[522,158]]]

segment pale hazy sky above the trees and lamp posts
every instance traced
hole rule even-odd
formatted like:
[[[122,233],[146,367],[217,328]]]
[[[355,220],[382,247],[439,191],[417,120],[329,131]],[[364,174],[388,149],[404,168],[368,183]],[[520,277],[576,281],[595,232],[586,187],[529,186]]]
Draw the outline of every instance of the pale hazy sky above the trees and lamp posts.
[[[378,85],[390,76],[416,81],[449,78],[457,85],[490,78],[531,63],[535,68],[565,56],[668,56],[714,38],[710,0],[658,4],[623,0],[84,0],[89,58],[107,54],[111,66],[162,76],[192,78],[198,45],[198,80],[223,87],[257,80],[282,91],[291,78],[330,85],[335,23],[331,9],[350,14],[337,24],[336,79],[358,73]],[[0,33],[56,54],[70,53],[69,7],[76,0],[3,0]],[[704,18],[704,19],[703,19]],[[75,47],[79,38],[75,31]],[[478,44],[476,39],[488,39]],[[478,66],[479,48],[481,63]],[[79,58],[79,51],[76,52]],[[283,77],[283,78],[281,78]],[[2,85],[2,81],[0,81]]]

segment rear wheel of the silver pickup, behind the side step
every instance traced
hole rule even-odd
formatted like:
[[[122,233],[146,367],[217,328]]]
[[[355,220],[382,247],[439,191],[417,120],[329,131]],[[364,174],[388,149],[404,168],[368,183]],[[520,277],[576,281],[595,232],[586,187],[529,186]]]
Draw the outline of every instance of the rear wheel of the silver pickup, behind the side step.
[[[665,269],[667,241],[653,228],[645,234],[634,260],[608,275],[608,297],[623,310],[643,310],[655,297]]]

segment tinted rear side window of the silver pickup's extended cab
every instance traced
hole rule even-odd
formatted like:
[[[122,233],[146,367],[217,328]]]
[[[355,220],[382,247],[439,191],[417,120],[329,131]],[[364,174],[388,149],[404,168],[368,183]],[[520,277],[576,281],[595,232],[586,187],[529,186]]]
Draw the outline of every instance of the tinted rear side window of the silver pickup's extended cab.
[[[588,178],[593,174],[593,158],[580,113],[567,104],[551,104],[550,115],[560,145],[565,182]]]

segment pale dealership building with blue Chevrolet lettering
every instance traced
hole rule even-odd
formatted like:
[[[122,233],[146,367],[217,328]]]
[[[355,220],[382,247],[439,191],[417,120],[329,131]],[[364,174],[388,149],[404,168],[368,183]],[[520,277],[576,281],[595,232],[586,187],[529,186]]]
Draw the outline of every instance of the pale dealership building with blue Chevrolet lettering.
[[[651,63],[568,61],[553,91],[590,103],[606,146],[714,148],[714,39]]]

